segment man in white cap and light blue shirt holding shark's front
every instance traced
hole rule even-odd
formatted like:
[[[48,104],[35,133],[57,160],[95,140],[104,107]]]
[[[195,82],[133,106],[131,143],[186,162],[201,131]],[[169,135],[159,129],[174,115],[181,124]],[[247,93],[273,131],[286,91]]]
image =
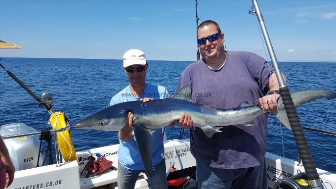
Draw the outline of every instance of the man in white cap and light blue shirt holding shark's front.
[[[112,97],[110,105],[127,101],[149,101],[169,97],[165,87],[146,83],[147,60],[138,49],[129,49],[123,56],[124,71],[129,85]],[[119,130],[118,189],[134,189],[140,172],[146,173],[137,144],[133,136],[133,115],[128,112],[125,127]],[[153,189],[167,189],[166,163],[164,160],[162,129],[152,130],[149,137],[152,155],[153,176],[148,177]]]

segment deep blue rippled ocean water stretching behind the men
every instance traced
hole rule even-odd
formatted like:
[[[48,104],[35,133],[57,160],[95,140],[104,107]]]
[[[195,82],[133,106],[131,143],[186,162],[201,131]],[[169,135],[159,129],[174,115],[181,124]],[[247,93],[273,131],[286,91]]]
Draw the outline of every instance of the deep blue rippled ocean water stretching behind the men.
[[[173,94],[182,71],[192,61],[149,61],[147,82],[165,86]],[[54,111],[63,111],[70,122],[109,105],[114,94],[128,85],[122,60],[2,58],[1,64],[35,94],[50,92]],[[322,89],[336,92],[336,63],[280,62],[291,92]],[[297,108],[303,126],[336,132],[336,99],[321,98]],[[0,122],[25,123],[36,130],[51,128],[49,113],[0,69]],[[276,121],[273,116],[269,120]],[[176,139],[180,129],[167,128],[167,138]],[[71,138],[77,151],[118,143],[116,131],[74,130]],[[305,131],[318,168],[336,173],[336,137]],[[185,130],[183,138],[189,138]],[[291,131],[268,125],[267,151],[297,160],[298,151]]]

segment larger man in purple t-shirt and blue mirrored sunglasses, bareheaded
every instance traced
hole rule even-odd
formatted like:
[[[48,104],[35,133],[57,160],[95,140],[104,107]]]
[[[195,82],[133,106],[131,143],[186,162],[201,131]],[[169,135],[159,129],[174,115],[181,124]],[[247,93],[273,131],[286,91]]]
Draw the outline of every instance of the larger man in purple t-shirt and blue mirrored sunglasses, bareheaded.
[[[266,112],[275,110],[279,84],[266,60],[251,52],[225,51],[224,34],[214,21],[201,23],[197,35],[203,59],[183,71],[176,91],[190,85],[196,103],[216,108],[235,108],[248,101]],[[197,188],[267,189],[267,116],[254,118],[252,127],[225,126],[210,139],[197,127],[190,130]],[[192,125],[191,116],[182,115],[179,126]]]

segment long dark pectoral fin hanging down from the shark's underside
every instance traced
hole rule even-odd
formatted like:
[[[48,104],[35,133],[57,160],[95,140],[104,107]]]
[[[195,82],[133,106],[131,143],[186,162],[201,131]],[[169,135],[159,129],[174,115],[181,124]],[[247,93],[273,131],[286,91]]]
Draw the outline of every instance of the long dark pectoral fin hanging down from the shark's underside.
[[[152,155],[149,144],[151,130],[142,127],[142,125],[133,125],[133,131],[146,174],[151,177],[153,175]]]

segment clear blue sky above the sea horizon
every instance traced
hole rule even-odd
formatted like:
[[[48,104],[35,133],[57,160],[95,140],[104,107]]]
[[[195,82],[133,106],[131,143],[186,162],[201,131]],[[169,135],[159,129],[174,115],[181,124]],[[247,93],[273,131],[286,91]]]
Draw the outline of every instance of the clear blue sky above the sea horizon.
[[[267,60],[251,0],[198,0],[199,24],[214,20],[227,50]],[[336,62],[336,0],[258,0],[278,61]],[[195,0],[0,0],[2,57],[196,59]]]

